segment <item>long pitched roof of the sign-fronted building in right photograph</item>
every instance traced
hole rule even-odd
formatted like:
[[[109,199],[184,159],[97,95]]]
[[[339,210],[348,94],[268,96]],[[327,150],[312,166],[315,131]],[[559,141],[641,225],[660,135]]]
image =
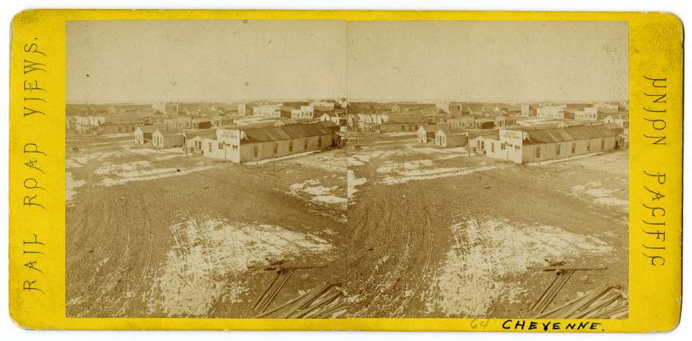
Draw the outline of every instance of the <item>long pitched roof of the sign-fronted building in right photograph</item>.
[[[529,137],[524,139],[524,144],[556,143],[614,136],[613,132],[602,124],[573,125],[567,128],[522,128],[521,130],[529,134]]]

